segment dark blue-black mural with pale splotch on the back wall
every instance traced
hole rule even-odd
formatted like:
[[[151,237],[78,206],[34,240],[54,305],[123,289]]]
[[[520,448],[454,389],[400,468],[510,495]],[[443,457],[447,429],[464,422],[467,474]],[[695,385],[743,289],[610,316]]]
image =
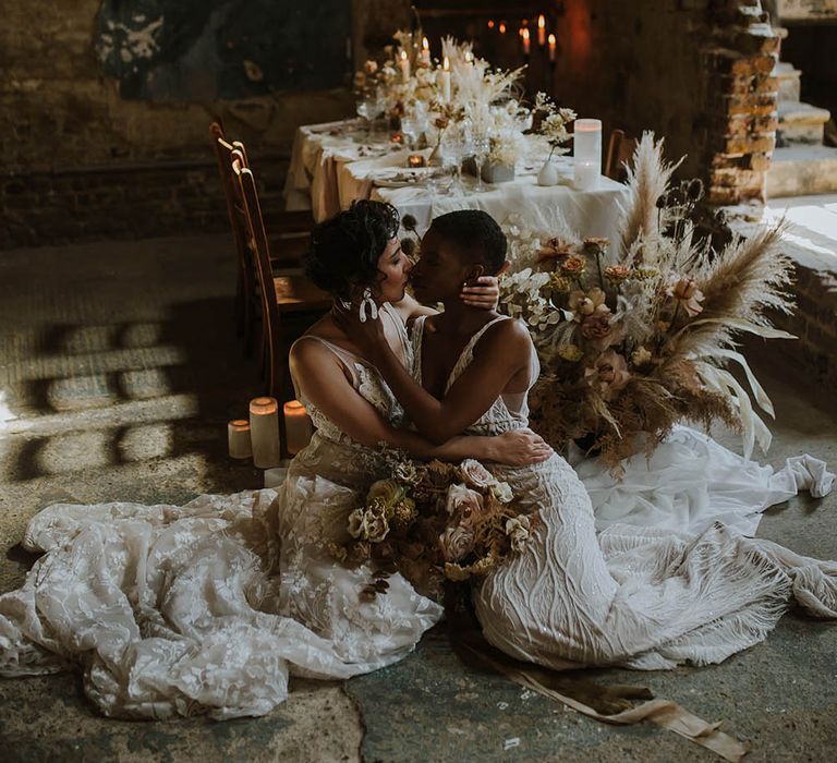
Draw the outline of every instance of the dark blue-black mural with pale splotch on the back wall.
[[[122,97],[242,98],[350,77],[350,0],[104,0],[96,51]]]

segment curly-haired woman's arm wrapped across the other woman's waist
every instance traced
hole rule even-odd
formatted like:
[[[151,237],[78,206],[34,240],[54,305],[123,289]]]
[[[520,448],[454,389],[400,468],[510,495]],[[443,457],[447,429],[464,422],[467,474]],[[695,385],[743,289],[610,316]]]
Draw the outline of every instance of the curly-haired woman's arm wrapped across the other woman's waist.
[[[390,426],[352,387],[337,358],[318,342],[295,344],[290,363],[304,397],[362,445],[376,447],[386,443],[422,459],[459,461],[477,458],[512,467],[544,461],[553,452],[529,429],[497,437],[451,437],[444,444],[434,445],[420,434]]]

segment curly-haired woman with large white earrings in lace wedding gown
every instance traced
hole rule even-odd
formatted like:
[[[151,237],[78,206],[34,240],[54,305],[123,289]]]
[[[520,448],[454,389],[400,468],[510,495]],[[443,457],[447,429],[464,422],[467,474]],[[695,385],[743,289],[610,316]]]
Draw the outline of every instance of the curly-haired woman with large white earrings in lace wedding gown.
[[[377,315],[411,366],[404,318],[433,311],[404,299],[411,263],[398,227],[393,207],[359,202],[315,228],[307,269],[341,304]],[[492,305],[496,294],[495,282],[464,296]],[[294,343],[290,365],[317,431],[278,491],[183,507],[61,504],[33,519],[24,546],[45,554],[21,589],[0,596],[0,675],[81,668],[106,715],[229,718],[283,701],[289,671],[349,678],[413,650],[441,607],[401,576],[387,596],[363,601],[371,570],[328,550],[348,538],[376,446],[518,465],[551,449],[521,428],[439,445],[400,428],[401,405],[330,315]]]

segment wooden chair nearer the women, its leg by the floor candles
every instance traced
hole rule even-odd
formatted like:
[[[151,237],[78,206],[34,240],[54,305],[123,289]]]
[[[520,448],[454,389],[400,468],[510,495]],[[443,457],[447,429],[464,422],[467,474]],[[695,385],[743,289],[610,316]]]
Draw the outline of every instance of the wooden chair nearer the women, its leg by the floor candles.
[[[290,371],[288,352],[290,343],[284,332],[283,318],[293,313],[323,312],[331,306],[331,296],[315,287],[303,276],[274,276],[270,269],[270,245],[262,218],[256,181],[246,166],[246,157],[238,149],[232,152],[231,170],[235,179],[235,209],[241,210],[247,245],[256,265],[256,275],[260,284],[262,325],[264,349],[266,353],[267,388],[270,397],[281,405],[290,391]],[[279,433],[282,443],[282,456],[286,457],[288,438],[284,416],[279,416]]]

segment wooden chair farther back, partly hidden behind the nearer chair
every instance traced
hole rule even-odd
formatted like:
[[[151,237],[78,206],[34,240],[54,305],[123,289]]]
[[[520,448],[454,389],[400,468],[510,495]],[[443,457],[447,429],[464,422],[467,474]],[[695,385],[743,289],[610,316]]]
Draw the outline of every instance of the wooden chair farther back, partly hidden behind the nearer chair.
[[[227,214],[238,255],[238,283],[235,289],[235,323],[240,335],[244,336],[247,352],[253,349],[254,327],[259,315],[259,298],[256,293],[256,266],[247,244],[247,234],[242,225],[241,214],[235,209],[236,180],[232,172],[232,155],[238,152],[243,166],[250,167],[247,153],[241,141],[230,142],[223,128],[218,122],[209,125],[213,137],[218,173],[221,178],[227,201]],[[277,275],[298,275],[301,272],[300,261],[308,246],[314,218],[311,211],[278,211],[268,217],[268,225],[276,237],[270,241],[270,267]],[[275,255],[274,252],[277,254]]]

